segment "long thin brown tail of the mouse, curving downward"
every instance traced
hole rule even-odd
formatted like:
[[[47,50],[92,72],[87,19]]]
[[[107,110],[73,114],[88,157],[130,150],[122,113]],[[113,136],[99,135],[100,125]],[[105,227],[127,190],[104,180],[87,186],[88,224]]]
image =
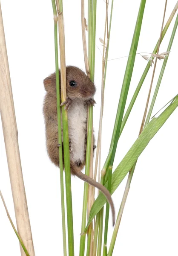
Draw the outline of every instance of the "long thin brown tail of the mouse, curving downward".
[[[103,186],[102,184],[98,183],[97,181],[93,180],[91,177],[85,175],[83,172],[76,172],[75,175],[77,177],[79,177],[81,180],[84,180],[85,182],[89,183],[90,185],[94,186],[95,188],[99,189],[107,198],[110,206],[111,206],[111,210],[112,210],[112,224],[114,226],[115,224],[115,208],[114,208],[114,204],[111,198],[111,195],[109,193],[109,191],[105,188],[105,186]]]

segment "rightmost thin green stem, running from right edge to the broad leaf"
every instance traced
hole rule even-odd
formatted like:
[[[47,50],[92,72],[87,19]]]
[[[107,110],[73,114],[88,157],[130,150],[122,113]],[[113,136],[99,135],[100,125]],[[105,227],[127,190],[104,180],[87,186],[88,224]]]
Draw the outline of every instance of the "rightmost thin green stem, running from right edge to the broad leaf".
[[[174,37],[175,37],[175,32],[177,30],[177,26],[178,26],[178,15],[177,15],[176,20],[175,20],[175,24],[174,24],[174,27],[173,27],[173,30],[172,30],[171,38],[169,40],[169,45],[167,47],[167,52],[170,52],[170,50],[171,50],[172,43],[173,43],[173,40],[174,40]],[[156,100],[156,97],[158,95],[158,90],[159,90],[159,87],[160,87],[160,84],[161,84],[161,80],[162,80],[163,75],[164,75],[164,70],[166,68],[166,64],[167,64],[168,58],[169,58],[169,56],[166,56],[166,58],[164,59],[164,62],[163,62],[162,68],[161,68],[161,72],[160,72],[160,75],[159,75],[159,78],[158,78],[158,82],[156,84],[155,92],[154,92],[154,95],[153,95],[153,98],[152,98],[152,102],[151,102],[151,105],[149,107],[148,115],[146,117],[146,121],[145,121],[144,127],[149,123],[149,119],[150,119],[150,117],[152,115],[152,110],[153,110],[153,107],[155,105],[155,100]]]

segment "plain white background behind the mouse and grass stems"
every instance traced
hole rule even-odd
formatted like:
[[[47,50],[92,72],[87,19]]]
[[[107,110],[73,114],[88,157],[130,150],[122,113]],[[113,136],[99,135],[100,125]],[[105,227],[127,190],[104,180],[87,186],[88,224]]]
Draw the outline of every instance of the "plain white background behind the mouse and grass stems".
[[[111,1],[110,1],[111,2]],[[137,52],[152,52],[160,35],[164,2],[146,3]],[[168,0],[167,21],[176,0]],[[132,41],[140,0],[115,1],[109,59],[126,56]],[[50,162],[45,146],[45,128],[42,114],[45,90],[43,79],[55,71],[54,27],[51,1],[1,0],[6,44],[9,56],[11,83],[17,117],[19,147],[26,196],[32,226],[36,256],[62,255],[59,170]],[[98,131],[101,86],[101,54],[99,38],[103,38],[105,2],[98,0],[96,33],[95,84],[97,93],[94,108],[94,128]],[[63,1],[66,64],[84,70],[80,24],[80,1]],[[175,15],[176,16],[176,15]],[[175,17],[161,44],[165,52]],[[153,110],[156,113],[178,93],[178,32],[172,45],[163,81]],[[103,115],[102,165],[106,159],[112,136],[115,114],[127,58],[108,62],[105,108]],[[163,61],[158,61],[153,87],[158,80]],[[135,91],[146,66],[136,55],[128,101]],[[114,169],[138,136],[153,67],[149,70],[141,92],[128,119],[115,157]],[[113,255],[121,256],[175,256],[178,255],[178,109],[169,117],[139,157],[131,189],[123,212],[121,226]],[[97,134],[97,132],[96,132]],[[0,189],[11,218],[15,222],[9,173],[6,162],[3,132],[0,127]],[[126,179],[113,195],[118,212]],[[83,203],[83,182],[72,177],[75,255],[79,253],[80,227]],[[109,220],[108,245],[112,235]],[[19,256],[17,237],[11,228],[0,201],[0,255]]]

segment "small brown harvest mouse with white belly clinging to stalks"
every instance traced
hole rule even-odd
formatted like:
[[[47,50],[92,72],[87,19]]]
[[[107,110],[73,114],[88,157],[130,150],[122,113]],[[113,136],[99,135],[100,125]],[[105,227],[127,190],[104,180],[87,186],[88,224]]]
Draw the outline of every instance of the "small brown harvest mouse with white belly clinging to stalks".
[[[60,70],[59,70],[60,81]],[[44,79],[46,96],[44,99],[43,113],[46,125],[46,147],[49,158],[59,167],[58,150],[58,130],[57,130],[57,99],[56,99],[56,76],[55,73]],[[68,112],[69,128],[69,151],[71,174],[76,175],[81,180],[100,189],[106,196],[112,209],[113,225],[115,223],[115,209],[109,191],[91,177],[83,174],[86,158],[87,140],[87,107],[94,105],[95,84],[78,67],[66,67],[66,101],[65,105]],[[61,94],[61,93],[60,93]],[[62,125],[62,122],[61,122]],[[61,127],[62,128],[62,127]],[[63,128],[62,128],[63,141]],[[95,149],[95,146],[94,146]]]

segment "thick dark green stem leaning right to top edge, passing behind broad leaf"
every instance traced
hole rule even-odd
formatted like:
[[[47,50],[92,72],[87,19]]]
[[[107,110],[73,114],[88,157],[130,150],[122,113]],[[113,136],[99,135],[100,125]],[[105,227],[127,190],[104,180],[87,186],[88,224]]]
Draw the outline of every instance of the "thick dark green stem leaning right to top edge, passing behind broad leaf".
[[[141,0],[140,4],[140,9],[138,12],[138,17],[137,17],[137,22],[135,25],[135,31],[132,39],[132,44],[129,52],[129,58],[127,61],[126,65],[126,71],[123,79],[123,85],[121,88],[121,95],[119,99],[119,104],[118,104],[118,111],[116,114],[116,119],[115,119],[115,126],[112,134],[112,141],[111,141],[111,146],[113,143],[113,149],[112,149],[112,154],[111,154],[111,160],[109,163],[108,167],[108,186],[107,189],[109,192],[111,191],[111,182],[112,182],[112,165],[114,163],[114,158],[115,158],[115,152],[118,144],[118,139],[119,139],[119,134],[120,134],[120,129],[121,129],[121,122],[123,119],[123,112],[125,109],[126,105],[126,99],[129,91],[129,85],[132,77],[132,72],[133,72],[133,67],[135,63],[135,55],[136,55],[136,50],[138,46],[138,40],[140,36],[140,31],[141,31],[141,24],[143,20],[143,15],[144,15],[144,8],[145,8],[146,0]],[[105,232],[104,232],[104,250],[103,250],[103,256],[106,256],[106,244],[107,244],[107,233],[108,233],[108,221],[109,221],[109,204],[108,202],[106,203],[106,217],[105,217]]]

